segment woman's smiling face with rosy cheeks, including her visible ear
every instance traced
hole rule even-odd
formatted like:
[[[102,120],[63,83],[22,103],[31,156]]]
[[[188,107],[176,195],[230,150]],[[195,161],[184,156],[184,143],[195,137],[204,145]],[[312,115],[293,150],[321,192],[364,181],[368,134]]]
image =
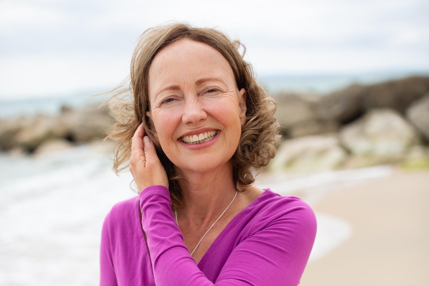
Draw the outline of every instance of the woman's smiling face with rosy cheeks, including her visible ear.
[[[205,43],[177,40],[154,57],[148,85],[151,128],[173,164],[199,173],[227,166],[246,104],[225,58]]]

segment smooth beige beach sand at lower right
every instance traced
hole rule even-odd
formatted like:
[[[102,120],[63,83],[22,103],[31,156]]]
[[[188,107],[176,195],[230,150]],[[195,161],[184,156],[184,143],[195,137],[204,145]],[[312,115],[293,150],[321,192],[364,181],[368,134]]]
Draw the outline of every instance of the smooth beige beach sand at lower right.
[[[395,170],[327,192],[312,207],[346,220],[353,232],[309,262],[300,286],[429,285],[429,171]]]

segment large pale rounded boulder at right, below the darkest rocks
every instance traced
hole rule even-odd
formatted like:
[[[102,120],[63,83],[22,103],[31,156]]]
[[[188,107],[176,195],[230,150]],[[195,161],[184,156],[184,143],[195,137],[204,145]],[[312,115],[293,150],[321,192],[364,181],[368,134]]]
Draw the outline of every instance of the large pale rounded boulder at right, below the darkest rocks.
[[[353,155],[397,158],[420,143],[415,128],[393,109],[375,109],[339,131],[341,144]]]

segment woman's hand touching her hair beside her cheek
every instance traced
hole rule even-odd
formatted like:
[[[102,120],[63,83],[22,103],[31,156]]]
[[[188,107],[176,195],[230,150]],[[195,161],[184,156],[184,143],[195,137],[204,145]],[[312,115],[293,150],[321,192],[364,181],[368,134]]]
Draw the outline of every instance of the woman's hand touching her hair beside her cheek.
[[[129,170],[139,193],[155,185],[168,189],[167,173],[156,155],[155,145],[144,135],[143,124],[138,126],[132,137]]]

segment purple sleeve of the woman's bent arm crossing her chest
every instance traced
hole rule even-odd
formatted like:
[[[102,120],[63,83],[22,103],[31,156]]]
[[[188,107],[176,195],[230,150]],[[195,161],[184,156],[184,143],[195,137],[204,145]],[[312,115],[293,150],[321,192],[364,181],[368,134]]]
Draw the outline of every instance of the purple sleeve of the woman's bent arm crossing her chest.
[[[291,199],[288,207],[248,223],[246,234],[230,246],[233,249],[212,282],[189,255],[173,218],[169,191],[160,186],[145,189],[140,206],[157,286],[296,286],[316,235],[311,208]]]

